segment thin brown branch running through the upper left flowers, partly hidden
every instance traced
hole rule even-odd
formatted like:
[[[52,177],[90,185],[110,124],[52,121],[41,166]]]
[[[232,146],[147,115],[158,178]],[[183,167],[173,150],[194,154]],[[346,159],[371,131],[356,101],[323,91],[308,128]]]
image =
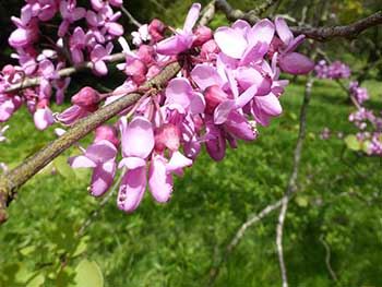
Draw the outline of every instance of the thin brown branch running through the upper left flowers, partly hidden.
[[[126,56],[123,52],[114,53],[114,55],[110,55],[107,62],[121,62],[121,61],[124,61],[124,57]],[[65,76],[72,75],[72,74],[77,73],[77,72],[83,71],[83,70],[92,70],[93,68],[94,68],[93,62],[91,62],[91,61],[84,62],[84,63],[79,64],[76,67],[64,68],[64,69],[58,71],[58,75],[60,77],[65,77]],[[13,92],[17,92],[19,89],[38,86],[39,82],[40,82],[39,76],[25,77],[22,82],[11,85],[9,88],[5,89],[4,93],[13,93]]]

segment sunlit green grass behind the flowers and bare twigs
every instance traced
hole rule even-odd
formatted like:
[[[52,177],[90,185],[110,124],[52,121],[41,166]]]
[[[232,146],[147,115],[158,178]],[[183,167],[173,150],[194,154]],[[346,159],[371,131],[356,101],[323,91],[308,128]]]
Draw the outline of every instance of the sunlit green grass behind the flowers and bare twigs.
[[[366,85],[371,104],[381,107],[379,84]],[[291,170],[302,93],[303,79],[287,88],[282,97],[284,113],[272,120],[270,128],[260,129],[256,142],[240,143],[222,163],[203,153],[183,178],[176,179],[168,204],[156,204],[147,192],[136,212],[124,214],[112,199],[81,239],[74,231],[99,200],[87,195],[88,172],[65,169],[62,157],[56,164],[58,172],[31,180],[10,206],[11,217],[0,232],[0,286],[17,286],[26,276],[23,274],[34,272],[41,274],[46,286],[68,286],[63,283],[73,279],[74,268],[84,258],[97,262],[105,286],[205,286],[211,267],[238,227],[283,195]],[[334,134],[354,132],[347,121],[350,109],[334,83],[315,83],[299,192],[285,226],[290,286],[334,286],[320,236],[331,247],[332,267],[341,284],[382,286],[382,212],[378,202],[363,202],[382,195],[380,159],[350,152],[341,157],[341,140],[319,139],[324,127]],[[55,137],[52,129],[38,132],[26,110],[9,124],[9,141],[0,145],[0,159],[10,166]],[[65,157],[76,153],[72,148]],[[363,201],[338,196],[349,191]],[[216,286],[280,285],[277,215],[275,212],[248,229],[223,266]]]

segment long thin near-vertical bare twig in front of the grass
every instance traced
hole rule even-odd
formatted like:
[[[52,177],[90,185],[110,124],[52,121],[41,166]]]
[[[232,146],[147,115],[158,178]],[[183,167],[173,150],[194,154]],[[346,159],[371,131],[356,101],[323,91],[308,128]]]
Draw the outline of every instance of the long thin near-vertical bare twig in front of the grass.
[[[303,103],[300,110],[300,124],[299,124],[300,128],[299,128],[299,133],[297,137],[295,154],[294,154],[294,168],[291,171],[291,176],[289,178],[285,196],[283,198],[282,208],[278,215],[278,223],[276,227],[276,246],[277,246],[278,261],[279,261],[279,267],[280,267],[282,279],[283,279],[283,287],[288,286],[287,271],[285,266],[284,252],[283,252],[283,229],[284,229],[286,212],[288,208],[289,196],[293,192],[297,191],[296,182],[297,182],[298,170],[301,162],[302,144],[306,137],[307,112],[308,112],[308,106],[310,103],[310,97],[312,94],[313,81],[314,81],[314,77],[311,74],[309,74],[307,79],[307,84],[306,84],[306,92],[303,95]]]

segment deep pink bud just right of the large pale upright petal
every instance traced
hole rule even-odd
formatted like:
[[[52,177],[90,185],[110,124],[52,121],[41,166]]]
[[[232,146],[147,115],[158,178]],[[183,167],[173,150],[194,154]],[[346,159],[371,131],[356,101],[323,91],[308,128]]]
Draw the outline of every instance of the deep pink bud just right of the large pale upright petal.
[[[178,151],[180,145],[180,130],[174,123],[165,123],[157,128],[155,134],[155,150],[163,152],[167,148]]]

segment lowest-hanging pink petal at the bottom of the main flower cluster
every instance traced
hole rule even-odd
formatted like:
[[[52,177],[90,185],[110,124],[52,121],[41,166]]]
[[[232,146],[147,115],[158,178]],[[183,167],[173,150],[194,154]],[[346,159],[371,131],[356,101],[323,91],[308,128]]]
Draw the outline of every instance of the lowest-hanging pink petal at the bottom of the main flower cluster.
[[[118,208],[133,212],[140,205],[146,190],[146,167],[128,170],[118,192]]]

